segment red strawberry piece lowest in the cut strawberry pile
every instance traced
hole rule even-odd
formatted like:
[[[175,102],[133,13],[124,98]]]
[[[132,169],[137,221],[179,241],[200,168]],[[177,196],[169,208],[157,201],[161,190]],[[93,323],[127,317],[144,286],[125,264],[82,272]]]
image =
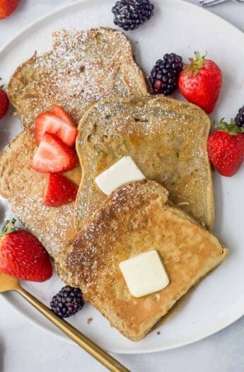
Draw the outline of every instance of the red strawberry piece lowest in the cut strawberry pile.
[[[49,207],[71,203],[76,199],[77,191],[78,186],[70,179],[61,174],[50,173],[42,203]]]

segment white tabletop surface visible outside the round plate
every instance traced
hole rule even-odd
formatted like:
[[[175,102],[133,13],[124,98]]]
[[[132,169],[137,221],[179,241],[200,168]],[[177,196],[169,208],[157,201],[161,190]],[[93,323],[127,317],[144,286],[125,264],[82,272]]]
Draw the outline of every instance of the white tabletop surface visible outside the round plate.
[[[0,21],[0,48],[30,22],[71,2],[21,0],[16,12]],[[199,4],[197,0],[189,2]],[[227,1],[208,9],[244,32],[244,4]],[[243,372],[244,317],[221,332],[189,346],[153,354],[120,354],[115,358],[130,370],[141,372]],[[29,323],[0,297],[0,372],[33,371],[99,372],[105,371],[105,368],[75,344],[61,341]]]

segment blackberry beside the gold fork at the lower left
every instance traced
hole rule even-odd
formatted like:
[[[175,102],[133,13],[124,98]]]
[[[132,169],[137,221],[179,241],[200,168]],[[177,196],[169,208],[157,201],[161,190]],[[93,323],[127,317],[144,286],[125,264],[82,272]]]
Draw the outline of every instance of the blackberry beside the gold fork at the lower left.
[[[65,286],[50,303],[52,311],[59,317],[70,317],[83,308],[84,300],[81,290]]]

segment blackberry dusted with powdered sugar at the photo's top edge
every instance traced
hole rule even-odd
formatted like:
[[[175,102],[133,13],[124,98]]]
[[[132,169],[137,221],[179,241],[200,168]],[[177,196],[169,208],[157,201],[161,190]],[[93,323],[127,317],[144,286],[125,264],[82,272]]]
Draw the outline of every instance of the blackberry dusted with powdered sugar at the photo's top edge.
[[[154,5],[149,0],[120,0],[112,7],[114,23],[125,31],[134,30],[153,16]]]

